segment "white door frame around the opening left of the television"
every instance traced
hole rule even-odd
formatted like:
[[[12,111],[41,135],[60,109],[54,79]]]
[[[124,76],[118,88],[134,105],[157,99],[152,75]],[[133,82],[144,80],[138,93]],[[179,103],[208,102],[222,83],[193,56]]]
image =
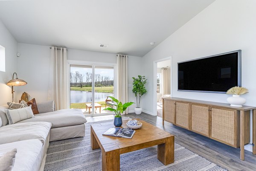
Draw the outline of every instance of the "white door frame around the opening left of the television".
[[[171,60],[170,65],[170,94],[172,96],[172,56],[153,61],[153,114],[157,116],[157,62]]]

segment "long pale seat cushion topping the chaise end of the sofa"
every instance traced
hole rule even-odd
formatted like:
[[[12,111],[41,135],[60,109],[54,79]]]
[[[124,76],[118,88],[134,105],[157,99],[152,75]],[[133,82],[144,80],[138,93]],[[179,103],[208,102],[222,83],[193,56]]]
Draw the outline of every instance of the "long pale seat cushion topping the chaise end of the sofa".
[[[80,109],[63,109],[48,113],[36,114],[34,118],[26,119],[24,122],[50,122],[52,128],[67,127],[86,123],[86,119]]]

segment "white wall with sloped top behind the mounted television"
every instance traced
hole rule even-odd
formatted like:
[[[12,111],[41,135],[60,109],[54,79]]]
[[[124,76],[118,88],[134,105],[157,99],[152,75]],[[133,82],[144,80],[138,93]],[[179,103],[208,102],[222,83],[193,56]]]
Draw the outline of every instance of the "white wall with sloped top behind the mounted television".
[[[148,78],[145,95],[148,100],[143,101],[143,107],[153,113],[153,61],[169,56],[172,56],[173,97],[227,103],[230,95],[177,91],[177,62],[238,49],[242,50],[242,86],[250,92],[243,95],[247,99],[245,105],[256,106],[255,6],[256,0],[216,0],[143,56],[143,71]],[[251,145],[245,148],[252,149]]]

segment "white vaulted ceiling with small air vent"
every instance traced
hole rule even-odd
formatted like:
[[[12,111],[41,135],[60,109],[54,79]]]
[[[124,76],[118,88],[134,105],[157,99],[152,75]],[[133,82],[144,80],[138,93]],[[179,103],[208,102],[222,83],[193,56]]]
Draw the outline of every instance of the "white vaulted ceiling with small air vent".
[[[213,1],[0,0],[0,20],[20,43],[143,56]]]

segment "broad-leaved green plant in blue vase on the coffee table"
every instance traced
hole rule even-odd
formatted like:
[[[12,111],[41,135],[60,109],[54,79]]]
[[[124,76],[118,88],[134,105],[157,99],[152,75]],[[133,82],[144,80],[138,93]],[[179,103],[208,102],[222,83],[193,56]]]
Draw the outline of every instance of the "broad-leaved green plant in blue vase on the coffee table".
[[[115,107],[107,107],[103,110],[109,110],[109,111],[113,111],[116,113],[115,119],[114,119],[114,125],[116,127],[120,127],[122,126],[122,116],[121,114],[127,109],[127,107],[131,106],[132,104],[134,104],[134,102],[127,102],[122,104],[121,101],[117,100],[116,98],[109,96],[110,99],[112,99],[114,102],[116,102],[116,104],[113,104]],[[114,109],[115,108],[115,109]]]

